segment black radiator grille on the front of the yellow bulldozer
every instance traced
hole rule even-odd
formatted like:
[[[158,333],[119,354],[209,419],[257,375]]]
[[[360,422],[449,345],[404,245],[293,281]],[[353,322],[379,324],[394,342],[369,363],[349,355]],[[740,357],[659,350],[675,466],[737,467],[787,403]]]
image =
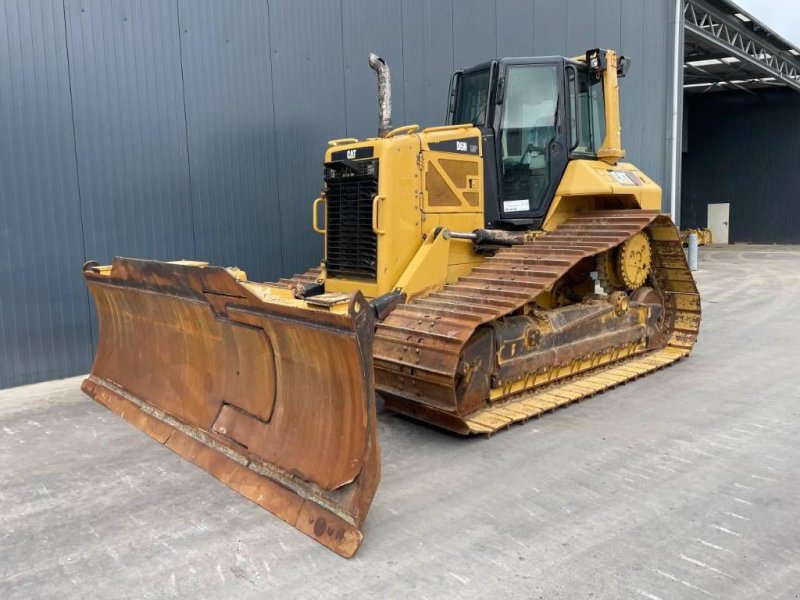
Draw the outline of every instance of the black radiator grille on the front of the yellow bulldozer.
[[[325,163],[329,276],[376,278],[378,237],[372,231],[372,201],[377,193],[377,160]]]

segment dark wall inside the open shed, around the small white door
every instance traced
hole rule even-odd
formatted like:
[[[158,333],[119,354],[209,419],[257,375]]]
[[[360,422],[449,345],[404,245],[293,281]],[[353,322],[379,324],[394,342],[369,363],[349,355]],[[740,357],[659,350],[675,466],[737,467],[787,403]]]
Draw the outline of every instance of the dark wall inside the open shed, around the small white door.
[[[730,242],[800,243],[800,94],[709,93],[686,107],[683,226],[729,202]]]

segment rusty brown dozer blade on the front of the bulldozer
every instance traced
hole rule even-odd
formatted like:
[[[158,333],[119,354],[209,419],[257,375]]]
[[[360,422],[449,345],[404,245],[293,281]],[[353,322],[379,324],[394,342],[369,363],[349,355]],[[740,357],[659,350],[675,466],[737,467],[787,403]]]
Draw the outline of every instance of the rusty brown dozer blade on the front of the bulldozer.
[[[343,556],[380,479],[373,316],[312,308],[236,269],[87,263],[100,320],[82,389]]]

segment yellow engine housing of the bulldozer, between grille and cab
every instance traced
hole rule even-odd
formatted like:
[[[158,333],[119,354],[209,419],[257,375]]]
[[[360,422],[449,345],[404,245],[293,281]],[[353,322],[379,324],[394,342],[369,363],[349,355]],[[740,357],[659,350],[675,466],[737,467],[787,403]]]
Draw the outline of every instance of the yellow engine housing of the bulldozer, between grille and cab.
[[[379,165],[375,197],[361,197],[357,188],[352,188],[346,202],[348,208],[344,210],[341,208],[345,204],[342,193],[336,187],[341,184],[333,183],[334,187],[329,188],[326,235],[330,264],[338,267],[342,262],[341,231],[351,232],[354,245],[363,239],[358,234],[361,227],[376,226],[379,233],[377,279],[373,282],[364,277],[358,279],[357,275],[337,275],[331,268],[325,290],[345,293],[361,290],[368,297],[385,294],[397,287],[423,241],[436,228],[469,232],[483,227],[481,150],[480,130],[468,127],[433,128],[419,134],[329,148],[326,161],[341,160],[351,153],[355,164],[363,165],[363,160],[369,160],[367,156],[374,156]],[[358,177],[348,179],[353,181]],[[362,210],[367,208],[371,210]],[[370,215],[372,223],[368,222]],[[346,227],[341,225],[343,219],[347,219]],[[481,257],[472,249],[469,242],[451,244],[449,252],[444,254],[444,262],[431,265],[431,269],[444,268],[446,264],[479,262]],[[356,264],[367,260],[358,249],[348,251],[347,259]]]

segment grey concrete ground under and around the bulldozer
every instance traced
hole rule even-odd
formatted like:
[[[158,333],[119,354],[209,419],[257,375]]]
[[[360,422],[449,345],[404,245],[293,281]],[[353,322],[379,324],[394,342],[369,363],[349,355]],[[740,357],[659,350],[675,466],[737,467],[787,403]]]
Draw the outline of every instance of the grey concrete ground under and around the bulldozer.
[[[488,440],[381,414],[349,561],[80,378],[0,392],[0,597],[797,598],[800,248],[700,267],[676,366]]]

